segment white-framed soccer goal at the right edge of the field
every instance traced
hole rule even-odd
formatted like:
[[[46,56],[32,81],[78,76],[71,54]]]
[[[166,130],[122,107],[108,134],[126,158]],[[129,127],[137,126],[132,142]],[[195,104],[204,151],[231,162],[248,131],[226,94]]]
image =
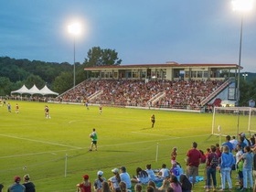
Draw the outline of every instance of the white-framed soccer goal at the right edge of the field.
[[[212,117],[213,135],[250,134],[256,132],[256,108],[215,107]]]

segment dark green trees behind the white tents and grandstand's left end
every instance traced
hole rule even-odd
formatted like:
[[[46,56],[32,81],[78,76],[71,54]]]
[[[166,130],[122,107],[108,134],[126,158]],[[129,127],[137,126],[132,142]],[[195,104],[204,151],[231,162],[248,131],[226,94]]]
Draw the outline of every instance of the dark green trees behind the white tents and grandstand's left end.
[[[114,49],[93,47],[87,53],[83,63],[75,63],[76,84],[91,77],[85,67],[102,65],[120,65],[122,59]],[[62,93],[73,86],[73,65],[68,62],[45,62],[40,60],[11,59],[0,57],[0,96],[10,95],[11,91],[26,85],[30,89],[34,84],[38,89],[45,85],[52,91]]]

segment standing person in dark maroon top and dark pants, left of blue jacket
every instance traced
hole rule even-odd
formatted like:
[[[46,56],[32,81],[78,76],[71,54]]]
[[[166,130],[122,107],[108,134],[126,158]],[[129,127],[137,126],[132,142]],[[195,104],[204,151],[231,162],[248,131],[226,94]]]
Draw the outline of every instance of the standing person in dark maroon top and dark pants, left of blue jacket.
[[[212,178],[213,181],[213,191],[216,191],[217,187],[217,180],[216,180],[216,168],[219,166],[219,157],[216,154],[216,146],[211,145],[210,146],[210,153],[207,157],[207,191],[209,191],[210,184],[210,178]]]

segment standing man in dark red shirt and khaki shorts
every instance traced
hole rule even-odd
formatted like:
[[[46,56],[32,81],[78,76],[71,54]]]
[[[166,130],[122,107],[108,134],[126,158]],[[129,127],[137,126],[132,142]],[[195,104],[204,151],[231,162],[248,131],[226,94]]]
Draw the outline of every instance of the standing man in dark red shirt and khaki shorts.
[[[193,142],[192,148],[187,152],[187,177],[192,176],[193,186],[198,176],[198,166],[201,162],[201,153],[197,150],[197,143]]]

